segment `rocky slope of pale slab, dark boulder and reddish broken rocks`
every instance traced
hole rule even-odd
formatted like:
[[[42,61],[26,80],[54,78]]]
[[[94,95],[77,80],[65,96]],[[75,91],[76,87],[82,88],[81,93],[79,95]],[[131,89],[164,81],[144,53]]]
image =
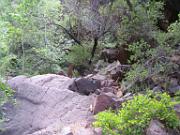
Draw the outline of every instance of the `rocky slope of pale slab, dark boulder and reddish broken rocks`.
[[[8,84],[15,90],[16,104],[1,108],[6,121],[0,135],[101,135],[101,129],[92,127],[93,115],[110,107],[117,109],[133,96],[123,95],[113,80],[102,75],[18,76]],[[179,115],[178,105],[175,110]],[[152,121],[146,134],[164,133],[162,124]]]

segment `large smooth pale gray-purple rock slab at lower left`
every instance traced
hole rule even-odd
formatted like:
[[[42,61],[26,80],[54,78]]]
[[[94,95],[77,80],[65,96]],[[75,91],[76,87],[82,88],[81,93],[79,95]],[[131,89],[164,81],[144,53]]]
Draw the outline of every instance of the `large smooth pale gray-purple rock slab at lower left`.
[[[54,123],[61,128],[77,121],[90,121],[89,108],[94,96],[69,90],[73,81],[52,74],[11,79],[8,84],[16,90],[17,101],[14,106],[6,104],[3,107],[6,122],[0,135],[31,135]]]

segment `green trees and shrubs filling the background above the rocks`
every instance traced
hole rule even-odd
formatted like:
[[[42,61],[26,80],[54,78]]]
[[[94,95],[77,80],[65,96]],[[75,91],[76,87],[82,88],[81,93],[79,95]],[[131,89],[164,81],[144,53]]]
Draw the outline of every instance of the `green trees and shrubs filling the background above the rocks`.
[[[156,25],[163,17],[163,2],[130,2],[131,5],[126,0],[115,0],[100,5],[96,15],[87,8],[87,1],[79,2],[76,8],[77,5],[68,0],[64,5],[59,0],[1,0],[0,74],[52,73],[57,72],[65,61],[77,66],[86,65],[91,47],[72,46],[68,31],[88,45],[97,35],[100,35],[99,44],[103,47],[130,44],[129,50],[133,53],[130,61],[136,64],[126,74],[128,83],[143,82],[154,75],[157,78],[162,72],[164,79],[167,75],[164,73],[177,69],[177,65],[165,56],[170,57],[172,47],[179,42],[179,20],[169,27],[168,33],[161,32]],[[109,20],[118,21],[111,24]],[[102,33],[106,34],[102,36]],[[66,55],[65,50],[72,51]]]

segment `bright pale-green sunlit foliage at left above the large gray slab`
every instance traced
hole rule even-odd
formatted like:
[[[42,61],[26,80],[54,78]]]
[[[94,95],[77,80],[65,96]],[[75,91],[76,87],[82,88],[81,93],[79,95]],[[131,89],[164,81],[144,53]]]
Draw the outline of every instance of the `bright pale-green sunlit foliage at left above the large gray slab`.
[[[55,24],[61,15],[59,1],[2,0],[1,4],[6,6],[0,10],[1,75],[56,72],[63,54],[59,44],[64,40]]]

